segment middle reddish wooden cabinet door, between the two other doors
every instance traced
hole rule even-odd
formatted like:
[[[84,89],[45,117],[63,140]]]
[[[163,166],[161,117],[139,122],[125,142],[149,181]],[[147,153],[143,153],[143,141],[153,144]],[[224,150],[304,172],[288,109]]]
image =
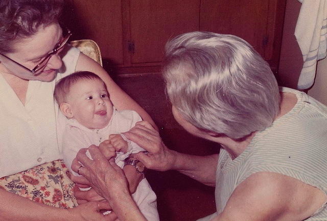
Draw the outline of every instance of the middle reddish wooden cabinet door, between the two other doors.
[[[131,64],[161,62],[166,42],[199,28],[200,0],[130,0]]]

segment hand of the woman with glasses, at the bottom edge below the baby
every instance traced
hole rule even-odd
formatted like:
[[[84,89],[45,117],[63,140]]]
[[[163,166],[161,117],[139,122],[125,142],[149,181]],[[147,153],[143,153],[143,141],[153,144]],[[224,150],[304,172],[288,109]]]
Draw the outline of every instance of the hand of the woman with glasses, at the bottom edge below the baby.
[[[103,215],[102,211],[106,208],[106,202],[89,202],[68,210],[74,216],[71,220],[116,220],[114,213]]]

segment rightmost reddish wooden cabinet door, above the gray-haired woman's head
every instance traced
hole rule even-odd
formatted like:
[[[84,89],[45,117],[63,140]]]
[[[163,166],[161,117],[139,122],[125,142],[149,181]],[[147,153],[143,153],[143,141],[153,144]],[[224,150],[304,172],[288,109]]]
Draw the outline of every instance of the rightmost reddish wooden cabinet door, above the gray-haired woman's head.
[[[269,0],[201,0],[200,30],[241,37],[269,60],[265,57],[268,11]]]

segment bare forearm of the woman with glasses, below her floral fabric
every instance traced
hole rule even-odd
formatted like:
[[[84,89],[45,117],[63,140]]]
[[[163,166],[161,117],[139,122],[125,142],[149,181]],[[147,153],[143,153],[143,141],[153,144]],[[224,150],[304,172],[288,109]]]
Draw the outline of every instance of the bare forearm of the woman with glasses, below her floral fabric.
[[[37,203],[0,189],[0,220],[72,220],[68,210]]]

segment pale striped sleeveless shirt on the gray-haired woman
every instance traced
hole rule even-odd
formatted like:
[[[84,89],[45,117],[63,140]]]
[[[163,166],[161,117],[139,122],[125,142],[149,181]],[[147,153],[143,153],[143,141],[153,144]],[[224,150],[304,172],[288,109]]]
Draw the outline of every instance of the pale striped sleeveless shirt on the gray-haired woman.
[[[216,206],[221,213],[233,190],[250,175],[274,172],[315,186],[327,194],[327,107],[305,93],[281,118],[253,137],[234,160],[221,149],[216,173]],[[326,204],[307,220],[327,220]]]

